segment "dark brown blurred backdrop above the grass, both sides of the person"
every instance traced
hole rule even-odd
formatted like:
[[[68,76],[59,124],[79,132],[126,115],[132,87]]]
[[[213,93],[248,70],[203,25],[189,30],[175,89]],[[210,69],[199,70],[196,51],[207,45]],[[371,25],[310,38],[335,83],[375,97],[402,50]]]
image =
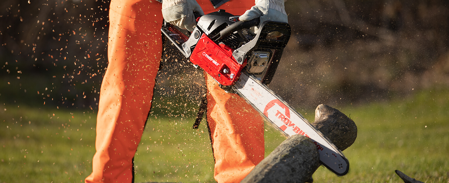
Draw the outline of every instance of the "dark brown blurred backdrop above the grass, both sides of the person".
[[[97,109],[109,2],[0,6],[0,101]],[[286,11],[293,36],[270,88],[293,106],[366,103],[449,84],[448,1],[292,0]]]

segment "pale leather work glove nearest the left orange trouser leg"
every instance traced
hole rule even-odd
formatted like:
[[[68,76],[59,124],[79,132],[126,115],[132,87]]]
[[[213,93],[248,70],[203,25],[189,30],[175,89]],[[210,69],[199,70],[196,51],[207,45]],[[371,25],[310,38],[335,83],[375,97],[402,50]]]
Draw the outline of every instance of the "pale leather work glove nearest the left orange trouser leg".
[[[190,32],[196,26],[194,12],[204,15],[201,7],[196,0],[163,0],[162,16],[165,21],[178,26],[181,29],[187,29]]]

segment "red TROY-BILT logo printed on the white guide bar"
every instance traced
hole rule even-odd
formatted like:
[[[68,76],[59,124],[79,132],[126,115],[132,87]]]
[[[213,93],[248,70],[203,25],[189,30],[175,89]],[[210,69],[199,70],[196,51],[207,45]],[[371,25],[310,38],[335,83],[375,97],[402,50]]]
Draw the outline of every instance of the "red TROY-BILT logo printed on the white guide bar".
[[[279,101],[277,99],[274,99],[274,100],[268,102],[268,104],[265,106],[265,109],[264,109],[265,116],[268,116],[268,110],[271,109],[272,107],[274,107],[274,104],[277,104],[277,106],[280,106],[281,108],[284,109],[283,110],[284,112],[276,110],[276,114],[275,114],[275,116],[277,118],[281,119],[282,123],[284,123],[281,127],[279,127],[279,128],[281,128],[282,131],[286,131],[287,128],[293,128],[292,130],[296,134],[301,134],[301,135],[309,137],[305,132],[303,132],[301,130],[301,128],[299,128],[295,123],[293,123],[290,120],[290,109],[285,104],[283,104],[281,101]]]

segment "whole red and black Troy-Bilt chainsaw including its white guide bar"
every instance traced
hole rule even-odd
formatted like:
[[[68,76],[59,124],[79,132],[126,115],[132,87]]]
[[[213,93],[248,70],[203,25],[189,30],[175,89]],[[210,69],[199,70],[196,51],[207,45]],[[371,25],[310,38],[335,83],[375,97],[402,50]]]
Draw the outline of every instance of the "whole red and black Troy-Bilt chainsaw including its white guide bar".
[[[287,137],[309,137],[324,166],[337,175],[347,174],[349,162],[343,153],[267,87],[290,38],[290,25],[276,21],[260,24],[259,19],[240,21],[239,16],[223,9],[196,20],[189,36],[167,22],[161,30],[195,68],[202,68],[222,89],[240,95]],[[259,29],[252,31],[254,26]]]

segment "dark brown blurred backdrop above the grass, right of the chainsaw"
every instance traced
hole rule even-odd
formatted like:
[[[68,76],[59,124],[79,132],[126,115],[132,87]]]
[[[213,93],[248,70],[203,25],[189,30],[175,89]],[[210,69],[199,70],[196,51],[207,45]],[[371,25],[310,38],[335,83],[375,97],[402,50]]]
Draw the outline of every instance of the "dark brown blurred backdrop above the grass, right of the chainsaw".
[[[286,4],[294,33],[272,88],[293,88],[279,92],[291,103],[360,104],[449,84],[448,1]]]

